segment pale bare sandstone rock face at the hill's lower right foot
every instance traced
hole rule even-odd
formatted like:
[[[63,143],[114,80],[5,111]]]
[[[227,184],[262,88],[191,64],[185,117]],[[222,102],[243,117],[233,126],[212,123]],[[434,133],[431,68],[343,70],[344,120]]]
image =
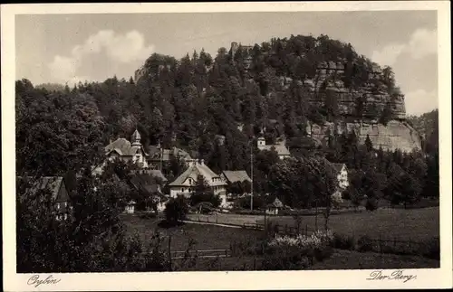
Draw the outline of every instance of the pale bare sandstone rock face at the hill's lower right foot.
[[[419,133],[405,121],[391,120],[387,126],[376,122],[358,121],[354,123],[325,123],[324,125],[309,124],[307,133],[321,143],[326,143],[329,133],[342,134],[355,132],[361,144],[367,135],[374,148],[393,151],[400,149],[403,152],[421,148]]]

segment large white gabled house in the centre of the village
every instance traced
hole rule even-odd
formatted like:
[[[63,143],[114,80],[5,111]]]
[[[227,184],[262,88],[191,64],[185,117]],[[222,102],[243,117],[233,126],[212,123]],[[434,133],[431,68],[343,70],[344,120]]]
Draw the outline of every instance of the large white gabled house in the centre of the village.
[[[214,194],[226,197],[226,182],[207,167],[202,159],[190,163],[188,169],[169,184],[170,197],[175,198],[178,195],[189,197],[191,193],[195,192],[198,175],[205,178]]]

